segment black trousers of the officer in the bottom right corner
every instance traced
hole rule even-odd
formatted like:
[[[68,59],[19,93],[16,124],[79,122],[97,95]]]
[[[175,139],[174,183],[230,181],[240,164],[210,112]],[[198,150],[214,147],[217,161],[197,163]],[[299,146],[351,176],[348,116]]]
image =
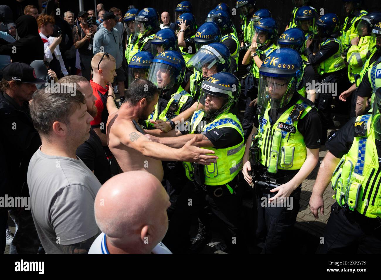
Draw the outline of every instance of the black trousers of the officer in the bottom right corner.
[[[379,254],[381,219],[368,218],[357,211],[344,210],[337,202],[324,230],[323,244],[317,253]]]

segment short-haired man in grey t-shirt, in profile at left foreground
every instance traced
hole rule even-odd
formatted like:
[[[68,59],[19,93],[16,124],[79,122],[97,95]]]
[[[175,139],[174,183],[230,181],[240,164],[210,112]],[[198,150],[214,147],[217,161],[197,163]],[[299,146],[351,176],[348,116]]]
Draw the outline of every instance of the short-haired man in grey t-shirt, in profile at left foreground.
[[[38,90],[30,105],[42,141],[27,174],[31,210],[46,253],[87,253],[100,233],[94,199],[101,184],[75,151],[89,138],[93,117],[80,91],[69,84],[60,90]]]

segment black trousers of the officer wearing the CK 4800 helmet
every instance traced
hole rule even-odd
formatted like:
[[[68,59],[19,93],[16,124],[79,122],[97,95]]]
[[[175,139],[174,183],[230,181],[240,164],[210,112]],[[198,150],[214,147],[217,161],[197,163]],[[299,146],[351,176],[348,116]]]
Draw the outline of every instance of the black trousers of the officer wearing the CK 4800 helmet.
[[[287,203],[271,205],[268,202],[277,192],[270,192],[264,187],[256,186],[258,208],[258,227],[256,238],[262,254],[285,253],[291,245],[296,215],[299,211],[301,185],[294,190]]]

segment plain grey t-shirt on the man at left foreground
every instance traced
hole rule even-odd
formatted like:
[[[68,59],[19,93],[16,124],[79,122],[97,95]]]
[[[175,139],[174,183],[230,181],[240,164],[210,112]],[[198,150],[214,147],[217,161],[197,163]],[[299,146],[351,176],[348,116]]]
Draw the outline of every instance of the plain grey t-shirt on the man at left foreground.
[[[100,233],[94,200],[101,187],[82,160],[46,155],[41,147],[29,162],[27,182],[38,237],[48,254],[61,245],[85,241]]]

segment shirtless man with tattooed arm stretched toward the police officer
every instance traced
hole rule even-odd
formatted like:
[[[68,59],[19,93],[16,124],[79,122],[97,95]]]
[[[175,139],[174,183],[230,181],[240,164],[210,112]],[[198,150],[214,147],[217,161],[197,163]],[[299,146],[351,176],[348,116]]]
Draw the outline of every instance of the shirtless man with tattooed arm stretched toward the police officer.
[[[159,93],[160,91],[152,82],[136,79],[128,87],[126,99],[120,109],[117,110],[115,106],[114,110],[109,110],[107,144],[123,172],[146,170],[162,181],[162,160],[198,162],[203,165],[216,162],[218,157],[206,155],[214,154],[212,150],[193,146],[197,136],[181,148],[174,149],[151,142],[136,130],[132,120],[136,122],[147,120],[154,110]],[[109,95],[112,96],[112,93]],[[107,103],[108,109],[109,103],[112,102]]]

